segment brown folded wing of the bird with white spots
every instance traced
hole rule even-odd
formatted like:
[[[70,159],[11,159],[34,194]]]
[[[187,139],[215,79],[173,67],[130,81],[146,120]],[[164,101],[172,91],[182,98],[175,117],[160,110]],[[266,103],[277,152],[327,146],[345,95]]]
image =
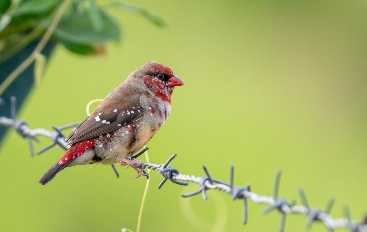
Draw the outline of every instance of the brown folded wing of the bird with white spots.
[[[138,96],[128,100],[120,99],[119,104],[113,105],[119,107],[111,108],[108,103],[102,101],[92,114],[70,133],[66,139],[68,145],[105,135],[143,117],[144,108],[140,105]]]

